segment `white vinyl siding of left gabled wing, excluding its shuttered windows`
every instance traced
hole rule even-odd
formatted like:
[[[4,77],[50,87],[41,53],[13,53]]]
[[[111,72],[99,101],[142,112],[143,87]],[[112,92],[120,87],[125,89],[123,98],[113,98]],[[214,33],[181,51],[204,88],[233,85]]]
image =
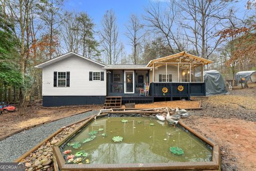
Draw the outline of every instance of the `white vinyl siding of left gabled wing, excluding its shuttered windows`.
[[[73,55],[69,58],[55,62],[43,68],[43,87],[42,93],[46,95],[87,95],[102,96],[107,94],[106,70],[94,62]],[[70,72],[70,87],[53,86],[53,73]],[[104,80],[97,82],[89,81],[89,72],[104,72]],[[67,76],[67,75],[66,75]],[[58,82],[58,75],[57,75]],[[58,85],[58,84],[57,84]]]

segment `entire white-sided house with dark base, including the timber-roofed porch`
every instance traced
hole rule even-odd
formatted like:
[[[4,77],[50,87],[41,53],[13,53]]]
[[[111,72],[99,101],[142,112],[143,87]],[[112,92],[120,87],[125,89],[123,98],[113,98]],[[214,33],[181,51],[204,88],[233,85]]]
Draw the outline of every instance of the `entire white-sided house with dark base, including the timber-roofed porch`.
[[[103,104],[106,96],[122,103],[189,99],[205,95],[204,65],[210,60],[180,52],[149,61],[147,65],[101,64],[74,52],[43,62],[43,106]],[[150,83],[149,96],[140,90]],[[183,87],[179,91],[178,87]],[[162,93],[162,88],[169,91]],[[109,101],[111,102],[111,100]]]

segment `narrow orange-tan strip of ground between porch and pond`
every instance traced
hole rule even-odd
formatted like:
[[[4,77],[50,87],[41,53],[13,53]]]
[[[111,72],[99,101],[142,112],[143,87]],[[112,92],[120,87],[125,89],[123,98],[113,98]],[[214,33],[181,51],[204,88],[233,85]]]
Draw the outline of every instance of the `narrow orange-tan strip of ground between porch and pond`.
[[[135,104],[135,108],[199,108],[199,101],[167,101],[167,102],[155,102],[150,104]]]

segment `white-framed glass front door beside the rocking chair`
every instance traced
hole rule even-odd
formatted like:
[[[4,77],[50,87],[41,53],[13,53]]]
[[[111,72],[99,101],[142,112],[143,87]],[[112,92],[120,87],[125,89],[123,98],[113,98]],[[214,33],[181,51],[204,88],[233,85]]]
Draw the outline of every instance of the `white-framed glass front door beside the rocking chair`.
[[[134,71],[124,71],[124,93],[134,93]]]

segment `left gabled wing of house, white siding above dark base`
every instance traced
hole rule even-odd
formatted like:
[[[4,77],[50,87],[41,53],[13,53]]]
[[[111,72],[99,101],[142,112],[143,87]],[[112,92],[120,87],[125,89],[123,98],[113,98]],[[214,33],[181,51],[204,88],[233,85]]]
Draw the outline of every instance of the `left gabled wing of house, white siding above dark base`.
[[[106,67],[74,52],[41,63],[43,106],[102,104],[107,95]]]

